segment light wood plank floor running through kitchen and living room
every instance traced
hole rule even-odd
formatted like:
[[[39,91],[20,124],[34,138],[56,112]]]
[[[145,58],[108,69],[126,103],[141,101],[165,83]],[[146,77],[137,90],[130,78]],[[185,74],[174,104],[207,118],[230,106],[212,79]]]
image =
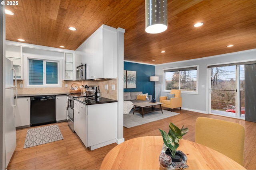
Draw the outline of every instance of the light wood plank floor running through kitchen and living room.
[[[244,167],[246,169],[256,169],[256,123],[193,111],[180,111],[179,109],[173,111],[180,114],[129,129],[124,127],[125,140],[141,136],[160,136],[158,128],[168,131],[169,122],[173,122],[178,127],[182,127],[182,125],[188,127],[189,132],[184,136],[184,139],[194,141],[197,117],[223,119],[244,126],[246,132]],[[26,149],[23,149],[23,146],[28,128],[17,130],[17,147],[8,169],[99,169],[104,156],[117,145],[111,144],[91,151],[82,144],[75,133],[71,132],[67,122],[57,124],[64,140]],[[218,140],[217,137],[216,140]]]

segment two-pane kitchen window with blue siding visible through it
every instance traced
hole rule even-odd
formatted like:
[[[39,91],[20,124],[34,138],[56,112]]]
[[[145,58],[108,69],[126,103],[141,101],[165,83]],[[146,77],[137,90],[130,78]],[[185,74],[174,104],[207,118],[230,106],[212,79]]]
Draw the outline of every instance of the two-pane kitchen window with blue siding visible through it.
[[[58,84],[58,62],[29,59],[28,84]]]

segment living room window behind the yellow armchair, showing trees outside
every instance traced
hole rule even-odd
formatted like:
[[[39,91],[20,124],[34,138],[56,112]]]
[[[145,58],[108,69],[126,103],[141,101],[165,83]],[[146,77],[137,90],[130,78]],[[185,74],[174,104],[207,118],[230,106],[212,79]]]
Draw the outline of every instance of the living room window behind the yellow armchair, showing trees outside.
[[[179,89],[182,92],[198,92],[197,71],[198,66],[164,69],[164,91]]]

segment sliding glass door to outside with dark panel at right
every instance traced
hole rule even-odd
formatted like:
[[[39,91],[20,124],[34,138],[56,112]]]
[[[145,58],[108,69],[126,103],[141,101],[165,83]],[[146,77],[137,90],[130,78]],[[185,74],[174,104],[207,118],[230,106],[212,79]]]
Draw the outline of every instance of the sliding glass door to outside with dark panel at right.
[[[208,113],[256,122],[256,61],[211,65],[207,69]]]

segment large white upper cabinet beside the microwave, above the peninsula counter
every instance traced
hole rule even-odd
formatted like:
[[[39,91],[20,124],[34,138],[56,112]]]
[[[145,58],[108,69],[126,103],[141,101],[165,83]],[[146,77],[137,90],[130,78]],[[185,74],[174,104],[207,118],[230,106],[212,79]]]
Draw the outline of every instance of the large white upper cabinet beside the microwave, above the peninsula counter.
[[[102,25],[83,44],[86,79],[116,78],[117,29]]]

